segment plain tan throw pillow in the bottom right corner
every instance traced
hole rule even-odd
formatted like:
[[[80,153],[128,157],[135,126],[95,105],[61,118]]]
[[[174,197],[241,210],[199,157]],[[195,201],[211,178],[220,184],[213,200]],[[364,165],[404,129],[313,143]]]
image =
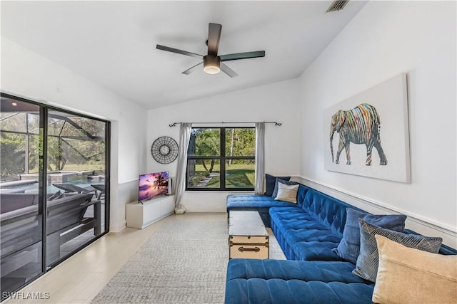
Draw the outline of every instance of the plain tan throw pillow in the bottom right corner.
[[[457,256],[408,248],[377,235],[374,303],[455,303]]]

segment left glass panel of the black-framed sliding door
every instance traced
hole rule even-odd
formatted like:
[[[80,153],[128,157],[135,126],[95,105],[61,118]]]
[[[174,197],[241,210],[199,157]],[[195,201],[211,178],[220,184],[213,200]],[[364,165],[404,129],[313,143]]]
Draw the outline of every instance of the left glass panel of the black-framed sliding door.
[[[39,204],[38,105],[1,98],[0,105],[1,299],[43,273],[43,210]],[[34,179],[21,179],[35,172]]]

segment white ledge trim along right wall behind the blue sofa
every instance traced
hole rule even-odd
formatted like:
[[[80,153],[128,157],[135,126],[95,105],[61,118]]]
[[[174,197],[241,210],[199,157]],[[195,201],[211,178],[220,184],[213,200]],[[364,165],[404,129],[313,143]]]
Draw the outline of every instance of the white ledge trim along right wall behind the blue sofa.
[[[307,177],[293,177],[293,179],[296,180],[296,182],[300,182],[301,184],[336,197],[337,199],[341,199],[342,201],[346,201],[348,204],[352,204],[374,214],[406,214],[406,216],[408,216],[406,228],[426,236],[440,236],[443,238],[443,243],[446,245],[453,248],[457,247],[457,231],[455,231],[453,227],[424,219],[421,216],[412,214],[406,210],[398,209],[393,206],[387,206],[380,201],[375,201],[343,189],[338,189]]]

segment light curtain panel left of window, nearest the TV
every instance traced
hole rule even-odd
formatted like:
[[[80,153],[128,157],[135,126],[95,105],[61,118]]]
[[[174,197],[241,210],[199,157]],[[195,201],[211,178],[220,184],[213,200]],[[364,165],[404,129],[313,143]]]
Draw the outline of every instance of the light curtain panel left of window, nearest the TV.
[[[181,122],[179,129],[179,152],[178,152],[178,169],[176,170],[176,200],[175,211],[180,209],[184,212],[185,209],[181,206],[181,198],[186,189],[186,167],[187,167],[187,149],[189,140],[191,139],[192,124],[190,122]]]

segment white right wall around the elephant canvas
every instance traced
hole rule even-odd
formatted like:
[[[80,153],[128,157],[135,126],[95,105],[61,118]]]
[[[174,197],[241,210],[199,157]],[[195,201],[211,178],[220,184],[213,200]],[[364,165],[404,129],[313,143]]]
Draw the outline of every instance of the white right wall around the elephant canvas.
[[[323,110],[399,73],[408,74],[411,184],[326,171]],[[431,223],[456,247],[456,2],[369,1],[300,83],[301,176]]]

